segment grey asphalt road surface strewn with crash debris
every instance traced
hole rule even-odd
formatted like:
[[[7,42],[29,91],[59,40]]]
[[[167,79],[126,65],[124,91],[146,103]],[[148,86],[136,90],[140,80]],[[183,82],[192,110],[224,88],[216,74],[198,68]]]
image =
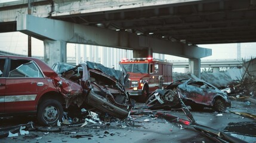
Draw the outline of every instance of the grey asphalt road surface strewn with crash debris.
[[[135,108],[143,104],[137,103]],[[191,111],[196,122],[209,128],[231,133],[246,142],[256,142],[256,123],[251,117],[230,113],[256,113],[256,104],[246,101],[232,101],[232,107],[225,113],[217,113],[209,108],[203,111]],[[165,113],[187,119],[183,111],[171,110]],[[32,119],[1,119],[0,128],[24,124]],[[1,138],[0,142],[215,142],[190,126],[180,126],[150,114],[131,115],[131,121],[122,123],[111,120],[110,123],[88,123],[81,125],[61,125],[51,128],[33,126],[29,134]]]

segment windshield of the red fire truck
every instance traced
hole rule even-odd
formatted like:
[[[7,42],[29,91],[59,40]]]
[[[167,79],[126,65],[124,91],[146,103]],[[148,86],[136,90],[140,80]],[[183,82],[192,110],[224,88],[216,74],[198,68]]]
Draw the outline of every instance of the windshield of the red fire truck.
[[[149,73],[149,64],[122,64],[127,72],[131,73]]]

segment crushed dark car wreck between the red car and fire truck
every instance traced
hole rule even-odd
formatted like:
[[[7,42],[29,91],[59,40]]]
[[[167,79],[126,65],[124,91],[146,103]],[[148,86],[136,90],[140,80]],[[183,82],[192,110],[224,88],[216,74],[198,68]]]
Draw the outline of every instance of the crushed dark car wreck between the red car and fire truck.
[[[124,89],[124,73],[104,67],[101,64],[81,63],[73,69],[61,73],[61,77],[71,80],[74,85],[81,85],[82,96],[70,97],[79,107],[97,108],[100,113],[108,113],[119,119],[128,117],[131,111],[131,100]],[[64,94],[64,93],[63,93]]]

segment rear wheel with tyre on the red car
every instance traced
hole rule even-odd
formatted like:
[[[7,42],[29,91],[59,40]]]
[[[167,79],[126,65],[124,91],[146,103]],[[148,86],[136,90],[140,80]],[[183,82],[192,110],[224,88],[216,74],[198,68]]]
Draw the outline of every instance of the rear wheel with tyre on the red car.
[[[41,125],[55,125],[63,116],[63,107],[57,100],[45,100],[39,104],[37,117]]]

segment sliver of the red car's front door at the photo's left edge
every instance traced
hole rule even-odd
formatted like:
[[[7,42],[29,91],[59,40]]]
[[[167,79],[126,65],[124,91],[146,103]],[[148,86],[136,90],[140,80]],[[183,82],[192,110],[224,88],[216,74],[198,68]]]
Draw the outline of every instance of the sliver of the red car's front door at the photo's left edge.
[[[0,114],[4,113],[5,58],[0,58]]]

